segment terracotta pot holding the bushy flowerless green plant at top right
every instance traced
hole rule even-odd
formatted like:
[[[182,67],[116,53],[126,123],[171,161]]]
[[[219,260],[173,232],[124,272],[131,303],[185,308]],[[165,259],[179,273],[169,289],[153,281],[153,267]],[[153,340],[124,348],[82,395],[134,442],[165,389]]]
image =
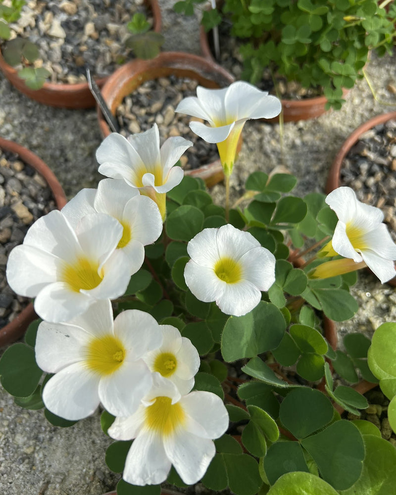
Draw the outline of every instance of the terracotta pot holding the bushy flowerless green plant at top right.
[[[215,61],[213,53],[210,49],[207,33],[200,26],[199,30],[199,43],[201,47],[202,56],[207,60]],[[343,96],[347,95],[348,91],[343,91]],[[314,98],[306,99],[281,99],[283,109],[283,121],[284,122],[297,122],[298,120],[308,120],[314,117],[319,117],[327,110],[325,104],[327,98],[325,96],[318,96]],[[262,119],[263,122],[275,124],[279,122],[279,116],[273,119]]]

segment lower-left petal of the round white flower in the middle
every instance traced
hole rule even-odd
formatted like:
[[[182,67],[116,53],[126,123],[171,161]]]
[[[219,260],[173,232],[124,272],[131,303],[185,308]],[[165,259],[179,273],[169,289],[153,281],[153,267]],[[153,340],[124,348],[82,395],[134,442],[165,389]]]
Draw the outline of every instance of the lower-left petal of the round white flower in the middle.
[[[184,279],[194,296],[203,302],[212,302],[220,298],[227,285],[211,268],[200,266],[192,259],[184,269]]]

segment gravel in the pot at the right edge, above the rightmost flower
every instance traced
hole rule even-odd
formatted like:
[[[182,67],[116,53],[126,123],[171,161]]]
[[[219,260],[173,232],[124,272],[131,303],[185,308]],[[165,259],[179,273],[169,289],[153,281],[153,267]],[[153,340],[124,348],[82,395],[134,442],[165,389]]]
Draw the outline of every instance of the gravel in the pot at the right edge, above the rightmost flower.
[[[396,120],[362,134],[344,159],[341,183],[360,201],[382,209],[396,241]]]

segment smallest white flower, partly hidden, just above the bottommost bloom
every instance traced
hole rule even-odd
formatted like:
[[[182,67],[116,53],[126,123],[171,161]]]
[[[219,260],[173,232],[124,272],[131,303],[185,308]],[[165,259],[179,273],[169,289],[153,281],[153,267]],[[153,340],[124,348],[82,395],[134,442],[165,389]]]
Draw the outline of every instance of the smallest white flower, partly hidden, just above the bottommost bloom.
[[[191,341],[182,337],[177,328],[160,325],[163,342],[161,347],[148,352],[144,361],[152,372],[157,372],[173,382],[180,394],[188,394],[194,387],[194,376],[200,360],[198,350]]]

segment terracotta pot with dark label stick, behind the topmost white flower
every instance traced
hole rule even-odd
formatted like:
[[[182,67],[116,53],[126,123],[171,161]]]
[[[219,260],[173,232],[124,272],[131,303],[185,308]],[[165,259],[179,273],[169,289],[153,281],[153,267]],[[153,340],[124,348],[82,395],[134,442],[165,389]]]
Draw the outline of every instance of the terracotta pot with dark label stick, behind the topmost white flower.
[[[168,51],[160,53],[152,60],[132,60],[121,66],[108,78],[101,89],[101,94],[111,113],[115,115],[124,97],[130,95],[145,81],[169,75],[195,79],[206,88],[224,87],[234,81],[231,74],[210,60],[191,53]],[[100,133],[105,138],[110,134],[110,128],[99,108],[98,120]],[[220,160],[185,173],[193,177],[201,177],[208,187],[224,178]]]

